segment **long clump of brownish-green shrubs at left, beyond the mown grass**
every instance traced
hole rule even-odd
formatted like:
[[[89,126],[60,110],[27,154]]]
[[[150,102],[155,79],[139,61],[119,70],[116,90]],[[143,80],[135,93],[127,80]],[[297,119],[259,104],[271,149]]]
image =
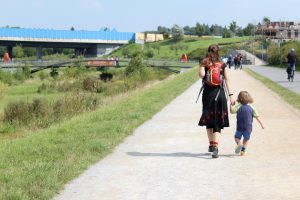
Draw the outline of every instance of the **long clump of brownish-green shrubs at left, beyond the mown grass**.
[[[12,102],[4,109],[3,122],[12,127],[45,128],[84,111],[93,110],[99,102],[95,95],[77,93],[48,103],[45,99]],[[0,132],[7,128],[1,126]]]

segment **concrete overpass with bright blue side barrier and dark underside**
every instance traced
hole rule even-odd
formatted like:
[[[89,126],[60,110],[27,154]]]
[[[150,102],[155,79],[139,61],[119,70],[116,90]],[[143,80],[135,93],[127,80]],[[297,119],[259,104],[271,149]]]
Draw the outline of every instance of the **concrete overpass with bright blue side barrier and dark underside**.
[[[0,28],[0,46],[7,46],[13,56],[13,47],[36,47],[37,58],[42,58],[42,48],[73,48],[77,55],[101,56],[135,41],[133,32],[71,31],[29,28]]]

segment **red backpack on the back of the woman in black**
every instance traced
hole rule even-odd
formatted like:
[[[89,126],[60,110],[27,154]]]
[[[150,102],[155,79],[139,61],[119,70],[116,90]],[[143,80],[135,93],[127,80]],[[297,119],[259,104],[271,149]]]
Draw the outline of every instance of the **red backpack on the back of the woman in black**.
[[[222,86],[224,80],[223,62],[215,62],[207,67],[204,82],[210,86]]]

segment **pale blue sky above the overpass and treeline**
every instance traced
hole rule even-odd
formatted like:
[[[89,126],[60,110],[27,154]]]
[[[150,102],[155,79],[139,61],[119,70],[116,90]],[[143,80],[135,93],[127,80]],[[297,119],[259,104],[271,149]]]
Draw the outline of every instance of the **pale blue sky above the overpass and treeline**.
[[[143,32],[197,22],[244,28],[265,16],[300,22],[300,0],[0,0],[0,6],[0,27]]]

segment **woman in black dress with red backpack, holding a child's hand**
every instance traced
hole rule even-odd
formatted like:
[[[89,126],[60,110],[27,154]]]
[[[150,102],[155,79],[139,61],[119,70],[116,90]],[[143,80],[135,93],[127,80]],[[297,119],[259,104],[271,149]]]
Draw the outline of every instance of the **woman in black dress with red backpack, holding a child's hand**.
[[[218,158],[218,144],[221,129],[229,127],[228,107],[225,87],[227,88],[230,103],[233,104],[233,94],[227,72],[227,65],[221,61],[219,46],[208,47],[206,58],[200,62],[199,76],[203,79],[202,115],[199,126],[206,126],[209,140],[209,152],[213,158]],[[219,76],[216,77],[215,75]],[[212,80],[215,77],[219,81]],[[215,83],[213,83],[215,81]],[[225,82],[225,84],[224,84]]]

